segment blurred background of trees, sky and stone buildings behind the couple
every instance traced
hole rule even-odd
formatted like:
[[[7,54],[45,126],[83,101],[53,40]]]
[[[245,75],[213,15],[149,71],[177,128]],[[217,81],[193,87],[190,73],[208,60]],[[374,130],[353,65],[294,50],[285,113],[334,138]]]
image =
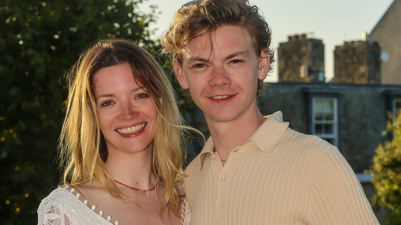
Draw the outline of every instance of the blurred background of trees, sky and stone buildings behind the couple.
[[[202,113],[180,92],[171,62],[159,54],[160,36],[184,3],[0,3],[2,224],[37,223],[40,201],[58,186],[63,75],[99,39],[123,37],[151,52],[177,90],[188,122],[207,135]],[[258,99],[261,111],[282,110],[291,128],[338,146],[380,222],[401,224],[401,0],[250,3],[263,11],[277,50],[275,72]],[[189,160],[200,147],[193,144]]]

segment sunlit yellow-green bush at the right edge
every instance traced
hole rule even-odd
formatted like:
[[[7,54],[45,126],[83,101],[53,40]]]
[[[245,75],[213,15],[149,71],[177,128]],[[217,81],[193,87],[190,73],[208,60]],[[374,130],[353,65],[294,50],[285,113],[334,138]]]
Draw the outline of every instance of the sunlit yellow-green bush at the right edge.
[[[378,145],[370,170],[377,191],[373,203],[391,210],[388,224],[401,224],[401,113],[394,120],[390,114],[386,134],[392,140]]]

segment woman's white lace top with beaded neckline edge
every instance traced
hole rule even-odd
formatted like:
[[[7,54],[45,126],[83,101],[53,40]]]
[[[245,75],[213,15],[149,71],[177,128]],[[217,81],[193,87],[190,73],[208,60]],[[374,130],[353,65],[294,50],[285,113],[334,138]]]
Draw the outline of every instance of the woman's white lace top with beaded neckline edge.
[[[112,217],[103,215],[103,211],[95,212],[96,205],[88,205],[85,199],[79,200],[80,194],[75,193],[72,188],[68,191],[68,186],[52,191],[44,198],[38,208],[38,225],[111,225]],[[188,225],[191,213],[188,201],[185,199],[183,213],[181,214],[181,224]],[[103,217],[104,216],[104,217]],[[118,225],[118,220],[115,221]],[[123,225],[123,224],[120,224]]]

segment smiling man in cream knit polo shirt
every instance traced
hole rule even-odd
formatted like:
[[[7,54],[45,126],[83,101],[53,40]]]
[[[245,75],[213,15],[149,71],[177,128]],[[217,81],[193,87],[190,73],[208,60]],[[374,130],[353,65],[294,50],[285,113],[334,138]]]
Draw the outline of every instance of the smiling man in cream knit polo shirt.
[[[191,224],[378,224],[338,149],[263,117],[271,33],[247,1],[192,1],[162,39],[211,137],[188,165]]]

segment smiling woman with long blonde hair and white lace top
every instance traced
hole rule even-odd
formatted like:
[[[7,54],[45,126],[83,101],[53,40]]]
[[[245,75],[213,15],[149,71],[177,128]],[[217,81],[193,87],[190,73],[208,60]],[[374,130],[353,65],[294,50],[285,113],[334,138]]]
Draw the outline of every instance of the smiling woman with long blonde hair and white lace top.
[[[129,41],[103,40],[67,83],[63,186],[42,200],[38,224],[188,223],[180,143],[191,128],[152,56]]]

